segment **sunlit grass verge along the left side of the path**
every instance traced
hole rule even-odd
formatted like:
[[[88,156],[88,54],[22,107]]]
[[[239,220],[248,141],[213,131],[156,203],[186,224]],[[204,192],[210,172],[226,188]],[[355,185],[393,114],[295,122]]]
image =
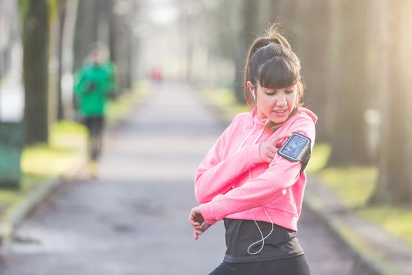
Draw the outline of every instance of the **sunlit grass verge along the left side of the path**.
[[[108,123],[113,123],[146,95],[146,83],[139,83],[132,92],[108,104]],[[49,143],[28,146],[21,155],[23,177],[19,190],[0,189],[0,219],[19,205],[39,185],[56,175],[65,173],[84,153],[87,131],[81,124],[63,120],[52,125]]]

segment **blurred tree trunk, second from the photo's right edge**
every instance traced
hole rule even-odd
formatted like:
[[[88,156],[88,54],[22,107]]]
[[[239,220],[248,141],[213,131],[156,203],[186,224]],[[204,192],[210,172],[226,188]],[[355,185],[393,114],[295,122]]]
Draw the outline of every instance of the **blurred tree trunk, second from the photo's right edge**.
[[[367,164],[364,112],[367,107],[369,81],[367,74],[369,1],[340,1],[336,14],[339,25],[337,58],[334,60],[334,123],[332,155],[328,165]]]

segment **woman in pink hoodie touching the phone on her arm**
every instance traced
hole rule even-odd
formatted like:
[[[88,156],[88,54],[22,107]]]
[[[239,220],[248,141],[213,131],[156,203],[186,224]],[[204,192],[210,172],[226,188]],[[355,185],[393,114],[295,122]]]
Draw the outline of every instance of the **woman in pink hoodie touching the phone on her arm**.
[[[277,153],[295,132],[312,140],[308,150],[313,146],[317,117],[301,107],[300,71],[275,25],[251,45],[244,94],[253,110],[233,118],[196,173],[194,238],[220,220],[226,228],[225,259],[212,275],[310,274],[296,238],[307,159]]]

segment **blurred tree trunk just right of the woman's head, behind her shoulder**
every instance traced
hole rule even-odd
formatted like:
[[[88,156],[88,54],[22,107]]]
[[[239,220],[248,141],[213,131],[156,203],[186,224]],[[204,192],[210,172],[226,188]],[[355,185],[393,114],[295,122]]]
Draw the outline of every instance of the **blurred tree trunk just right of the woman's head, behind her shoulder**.
[[[328,140],[330,104],[330,1],[299,0],[297,4],[296,51],[306,84],[305,106],[319,118],[317,142]]]

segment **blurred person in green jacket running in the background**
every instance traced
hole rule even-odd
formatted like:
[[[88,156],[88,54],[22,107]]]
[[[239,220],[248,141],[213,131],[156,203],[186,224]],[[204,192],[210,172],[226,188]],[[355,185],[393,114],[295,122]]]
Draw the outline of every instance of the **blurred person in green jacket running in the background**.
[[[89,133],[88,153],[93,177],[102,152],[106,103],[113,98],[115,89],[115,66],[105,60],[100,46],[92,46],[87,60],[75,74],[74,94],[78,115]]]

